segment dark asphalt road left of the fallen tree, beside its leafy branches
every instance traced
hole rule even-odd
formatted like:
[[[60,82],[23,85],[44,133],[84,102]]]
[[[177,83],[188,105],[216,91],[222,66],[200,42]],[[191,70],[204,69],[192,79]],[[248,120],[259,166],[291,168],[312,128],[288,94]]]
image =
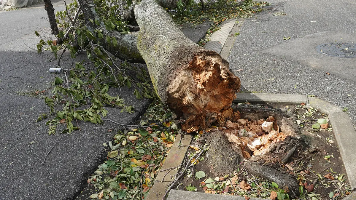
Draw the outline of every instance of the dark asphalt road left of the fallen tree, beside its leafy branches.
[[[58,11],[64,6],[54,3],[54,8]],[[0,12],[1,200],[74,199],[87,184],[88,175],[106,158],[103,143],[115,135],[95,128],[98,125],[79,123],[80,131],[71,135],[48,136],[46,120],[35,122],[49,108],[42,98],[30,94],[46,90],[44,94],[49,95],[57,75],[48,73],[49,68],[57,66],[57,62],[51,62],[51,54],[39,56],[32,50],[39,42],[34,31],[49,32],[49,23],[43,17],[47,17],[43,5]],[[62,67],[71,66],[68,57],[62,59]],[[126,89],[122,96],[136,112],[130,115],[110,107],[109,119],[124,124],[139,119],[149,101],[138,101],[132,94],[133,90]]]

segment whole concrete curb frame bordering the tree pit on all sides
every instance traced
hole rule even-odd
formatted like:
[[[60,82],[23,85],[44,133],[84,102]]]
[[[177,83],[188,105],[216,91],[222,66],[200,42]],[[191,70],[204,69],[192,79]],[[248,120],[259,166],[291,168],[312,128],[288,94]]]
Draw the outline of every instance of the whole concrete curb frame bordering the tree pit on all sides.
[[[356,131],[352,125],[349,115],[342,111],[338,106],[330,104],[316,97],[308,97],[307,95],[294,94],[264,94],[264,93],[236,93],[237,98],[233,102],[254,102],[254,103],[277,103],[277,104],[294,104],[299,105],[305,103],[315,107],[316,109],[328,114],[330,123],[333,127],[336,142],[339,146],[339,151],[344,162],[347,178],[352,189],[356,188],[356,152],[353,150],[356,143]],[[178,147],[179,136],[174,142],[171,151],[169,152],[166,161],[162,166],[162,170],[176,167],[182,163],[188,145],[192,141],[192,136],[185,135],[182,140],[182,146]],[[184,144],[183,144],[184,142]],[[174,152],[174,153],[173,153]],[[172,170],[173,171],[173,170]],[[166,173],[158,173],[155,184],[152,186],[146,199],[158,200],[162,199],[165,193],[166,185],[174,180],[176,172],[168,172],[164,180],[162,178]],[[168,178],[169,177],[169,178]],[[162,181],[162,182],[161,182]],[[165,182],[166,184],[162,184]],[[160,196],[159,196],[160,195]],[[171,190],[167,200],[244,200],[242,196],[214,195],[198,192],[190,192],[184,190]],[[251,200],[262,200],[251,198]],[[346,196],[343,200],[356,200],[356,191]]]

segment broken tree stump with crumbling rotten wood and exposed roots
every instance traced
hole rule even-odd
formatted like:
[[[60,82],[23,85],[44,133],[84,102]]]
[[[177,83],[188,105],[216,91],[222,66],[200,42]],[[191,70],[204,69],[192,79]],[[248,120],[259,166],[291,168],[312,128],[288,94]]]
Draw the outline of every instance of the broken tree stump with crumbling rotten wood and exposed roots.
[[[217,176],[242,162],[253,175],[276,182],[299,194],[297,182],[274,166],[288,162],[300,145],[300,130],[286,117],[271,111],[227,109],[201,140],[210,145],[206,163]]]

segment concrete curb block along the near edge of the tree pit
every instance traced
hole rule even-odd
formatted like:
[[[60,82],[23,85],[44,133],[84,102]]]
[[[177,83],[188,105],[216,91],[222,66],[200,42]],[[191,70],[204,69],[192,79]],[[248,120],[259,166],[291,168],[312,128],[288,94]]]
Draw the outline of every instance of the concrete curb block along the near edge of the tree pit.
[[[243,196],[230,196],[220,194],[206,194],[198,192],[190,192],[184,190],[171,190],[167,200],[245,200]],[[250,198],[250,200],[262,200],[257,198]]]

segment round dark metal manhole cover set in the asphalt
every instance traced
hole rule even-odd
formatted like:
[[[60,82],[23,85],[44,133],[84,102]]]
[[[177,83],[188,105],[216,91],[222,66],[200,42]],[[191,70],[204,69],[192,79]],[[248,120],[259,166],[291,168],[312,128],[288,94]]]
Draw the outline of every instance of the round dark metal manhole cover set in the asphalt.
[[[315,49],[326,56],[356,58],[356,44],[354,43],[326,43],[318,45]]]

